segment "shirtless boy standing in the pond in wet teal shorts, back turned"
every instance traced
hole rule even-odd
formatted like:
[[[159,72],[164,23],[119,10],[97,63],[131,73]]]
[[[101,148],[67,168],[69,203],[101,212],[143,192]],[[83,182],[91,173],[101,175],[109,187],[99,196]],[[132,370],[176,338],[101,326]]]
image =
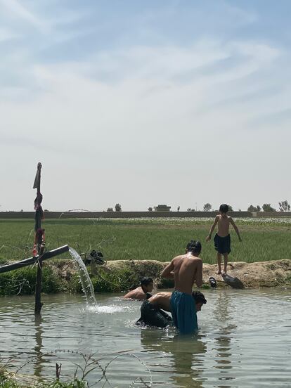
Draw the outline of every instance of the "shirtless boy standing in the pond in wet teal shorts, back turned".
[[[162,271],[162,278],[174,279],[175,291],[170,298],[174,325],[182,334],[196,330],[196,311],[193,304],[192,288],[196,283],[202,285],[202,260],[199,257],[201,243],[191,240],[186,247],[186,254],[174,257]]]

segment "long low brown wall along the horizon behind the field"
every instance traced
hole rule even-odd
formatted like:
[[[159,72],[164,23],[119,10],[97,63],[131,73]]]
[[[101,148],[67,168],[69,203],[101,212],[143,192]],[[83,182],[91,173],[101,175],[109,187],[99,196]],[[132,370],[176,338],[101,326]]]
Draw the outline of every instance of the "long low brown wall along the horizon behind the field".
[[[212,218],[217,212],[45,212],[46,219],[72,218]],[[235,218],[290,217],[291,212],[228,212]],[[0,212],[0,219],[34,219],[34,212]]]

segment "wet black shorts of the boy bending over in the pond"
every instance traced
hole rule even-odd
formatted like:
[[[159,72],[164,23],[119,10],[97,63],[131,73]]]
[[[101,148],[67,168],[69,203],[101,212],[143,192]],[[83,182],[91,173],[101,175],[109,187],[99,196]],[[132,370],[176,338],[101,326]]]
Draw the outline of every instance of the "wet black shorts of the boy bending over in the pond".
[[[138,319],[136,325],[150,325],[157,328],[166,328],[172,324],[172,318],[169,314],[161,309],[157,309],[153,304],[145,300],[141,304],[141,318]]]

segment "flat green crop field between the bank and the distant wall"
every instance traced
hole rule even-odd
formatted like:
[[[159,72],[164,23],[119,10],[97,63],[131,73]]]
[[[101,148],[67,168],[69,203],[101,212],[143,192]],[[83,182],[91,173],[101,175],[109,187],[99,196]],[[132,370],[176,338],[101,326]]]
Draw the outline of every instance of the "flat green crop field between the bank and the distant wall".
[[[213,241],[206,243],[213,219],[48,219],[46,249],[68,244],[79,253],[100,250],[107,260],[169,261],[189,240],[200,240],[205,263],[216,262]],[[243,243],[231,227],[229,261],[291,259],[291,218],[235,219]],[[31,257],[34,220],[0,220],[0,264]],[[212,236],[213,237],[213,236]],[[63,257],[69,257],[63,254]]]

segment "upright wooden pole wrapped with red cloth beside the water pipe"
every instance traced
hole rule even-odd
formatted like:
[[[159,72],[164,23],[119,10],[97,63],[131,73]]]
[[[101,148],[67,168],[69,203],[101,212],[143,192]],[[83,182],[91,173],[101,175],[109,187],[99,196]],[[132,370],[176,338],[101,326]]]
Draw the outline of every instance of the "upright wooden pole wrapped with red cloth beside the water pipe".
[[[45,239],[44,239],[44,229],[41,228],[41,219],[44,219],[44,212],[41,207],[42,202],[42,195],[40,192],[40,183],[41,183],[41,163],[37,164],[37,174],[34,179],[34,185],[33,188],[37,189],[37,197],[34,200],[34,231],[35,231],[35,238],[34,238],[34,248],[33,248],[33,255],[34,257],[37,257],[37,281],[35,285],[35,305],[34,305],[34,313],[39,314],[41,312],[41,280],[42,280],[42,254],[44,254],[44,246],[45,246]]]

